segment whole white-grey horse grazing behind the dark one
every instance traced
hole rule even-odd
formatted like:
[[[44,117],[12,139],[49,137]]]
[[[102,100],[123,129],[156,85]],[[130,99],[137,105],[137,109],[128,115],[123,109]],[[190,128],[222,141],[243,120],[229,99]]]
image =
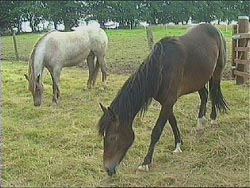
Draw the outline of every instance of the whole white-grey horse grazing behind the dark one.
[[[42,73],[46,67],[53,81],[53,103],[58,104],[60,98],[60,74],[63,67],[75,66],[85,59],[89,67],[87,87],[95,85],[101,67],[102,81],[106,85],[107,68],[105,62],[108,37],[103,29],[87,26],[72,32],[51,31],[41,37],[34,46],[29,59],[29,90],[35,106],[42,103]],[[96,63],[95,63],[95,58]]]

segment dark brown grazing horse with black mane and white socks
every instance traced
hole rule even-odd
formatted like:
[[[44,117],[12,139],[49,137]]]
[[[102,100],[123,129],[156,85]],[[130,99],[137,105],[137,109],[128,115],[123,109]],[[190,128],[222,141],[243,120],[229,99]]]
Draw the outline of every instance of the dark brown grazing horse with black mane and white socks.
[[[177,126],[173,106],[177,99],[198,91],[201,105],[198,120],[203,121],[209,94],[212,102],[210,118],[216,120],[217,111],[228,106],[222,96],[220,82],[226,63],[226,43],[222,33],[210,24],[201,24],[180,37],[166,37],[157,42],[154,49],[130,76],[117,96],[100,118],[99,134],[103,136],[103,164],[108,175],[116,173],[134,141],[132,128],[136,114],[147,110],[152,99],[161,104],[161,111],[152,130],[151,143],[140,170],[148,170],[153,152],[162,130],[169,121],[175,138],[175,152],[181,152],[183,144]]]

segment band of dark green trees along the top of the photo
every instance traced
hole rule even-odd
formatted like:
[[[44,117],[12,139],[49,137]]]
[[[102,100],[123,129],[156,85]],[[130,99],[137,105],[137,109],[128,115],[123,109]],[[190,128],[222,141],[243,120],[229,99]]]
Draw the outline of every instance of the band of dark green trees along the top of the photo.
[[[33,32],[42,21],[64,24],[65,31],[77,26],[80,19],[98,20],[101,25],[109,20],[133,28],[138,21],[150,24],[186,23],[191,17],[196,22],[237,20],[250,16],[248,1],[0,1],[1,31],[29,21]]]

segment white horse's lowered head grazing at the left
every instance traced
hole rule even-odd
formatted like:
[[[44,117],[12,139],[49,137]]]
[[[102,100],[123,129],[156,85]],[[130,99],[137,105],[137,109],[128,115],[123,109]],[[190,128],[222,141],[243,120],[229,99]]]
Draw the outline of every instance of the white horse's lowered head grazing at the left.
[[[28,77],[26,74],[24,76],[29,82],[29,90],[33,96],[34,105],[41,106],[42,96],[43,96],[43,84],[41,75],[38,74],[38,76],[35,79]]]

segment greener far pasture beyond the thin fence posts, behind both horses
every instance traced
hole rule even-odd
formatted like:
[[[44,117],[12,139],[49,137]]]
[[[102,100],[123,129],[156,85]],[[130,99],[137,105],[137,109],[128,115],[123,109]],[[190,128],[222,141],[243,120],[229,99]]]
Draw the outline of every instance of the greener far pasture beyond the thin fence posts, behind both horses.
[[[186,28],[153,28],[155,42],[164,36],[179,36],[186,32]],[[223,30],[222,30],[223,31]],[[224,77],[231,76],[231,30],[223,31],[227,40],[228,64],[224,71]],[[43,34],[17,35],[17,46],[20,59],[28,61],[29,55],[36,41]],[[107,64],[111,73],[132,73],[148,55],[148,43],[144,29],[135,30],[107,30],[109,48]],[[2,37],[2,59],[15,61],[12,37]],[[84,64],[86,68],[86,63]]]

